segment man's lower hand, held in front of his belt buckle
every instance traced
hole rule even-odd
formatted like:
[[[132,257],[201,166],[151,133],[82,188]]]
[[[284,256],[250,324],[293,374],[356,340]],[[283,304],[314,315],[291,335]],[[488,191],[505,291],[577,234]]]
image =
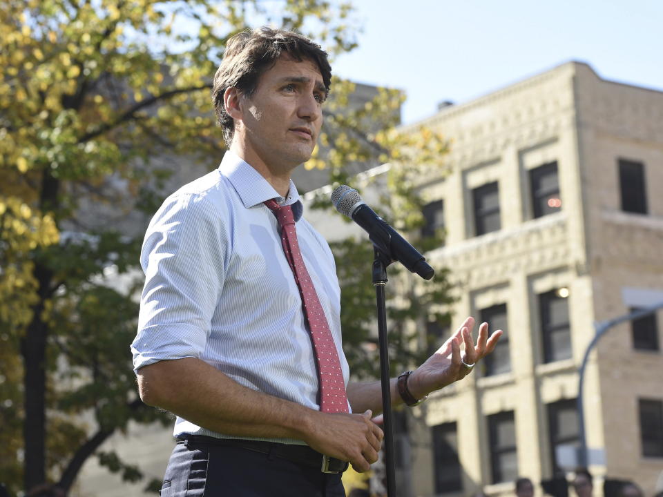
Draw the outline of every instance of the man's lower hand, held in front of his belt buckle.
[[[355,471],[368,471],[378,460],[384,433],[371,420],[372,412],[363,414],[321,413],[312,416],[304,440],[321,454],[349,461]]]

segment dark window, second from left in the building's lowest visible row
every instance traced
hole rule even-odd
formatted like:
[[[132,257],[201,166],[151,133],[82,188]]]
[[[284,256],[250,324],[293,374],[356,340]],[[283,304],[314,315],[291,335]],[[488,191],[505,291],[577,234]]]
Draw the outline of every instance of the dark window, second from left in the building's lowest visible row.
[[[518,477],[518,458],[513,411],[488,416],[488,431],[492,483],[515,480]]]

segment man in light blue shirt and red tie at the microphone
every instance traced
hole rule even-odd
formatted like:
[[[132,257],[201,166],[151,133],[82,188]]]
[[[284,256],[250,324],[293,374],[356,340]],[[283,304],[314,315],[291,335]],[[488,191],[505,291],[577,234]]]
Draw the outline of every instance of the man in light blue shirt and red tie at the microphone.
[[[213,88],[229,150],[148,227],[132,351],[142,400],[177,415],[162,496],[345,496],[345,462],[367,471],[377,460],[380,382],[348,382],[334,259],[290,179],[314,150],[330,81],[309,39],[233,37]],[[474,346],[473,325],[392,380],[394,403],[463,378],[492,351],[500,333],[488,340],[482,324]]]

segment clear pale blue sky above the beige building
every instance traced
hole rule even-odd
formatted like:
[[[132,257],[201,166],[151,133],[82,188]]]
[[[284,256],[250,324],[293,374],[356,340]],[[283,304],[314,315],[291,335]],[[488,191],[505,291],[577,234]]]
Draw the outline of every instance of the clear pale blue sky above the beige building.
[[[336,75],[405,90],[403,123],[570,60],[663,90],[663,0],[354,0],[358,48]]]

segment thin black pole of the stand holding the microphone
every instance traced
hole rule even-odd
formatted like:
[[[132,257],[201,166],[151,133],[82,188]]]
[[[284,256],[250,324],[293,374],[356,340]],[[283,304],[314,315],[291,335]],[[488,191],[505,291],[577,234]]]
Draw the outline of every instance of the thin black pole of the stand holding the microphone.
[[[373,285],[377,298],[378,341],[380,344],[380,370],[382,384],[382,416],[385,433],[385,470],[387,471],[387,497],[396,497],[396,469],[394,465],[394,430],[392,425],[392,385],[389,368],[389,344],[387,342],[387,309],[385,304],[385,286],[387,284],[387,266],[392,263],[389,256],[373,247]]]

